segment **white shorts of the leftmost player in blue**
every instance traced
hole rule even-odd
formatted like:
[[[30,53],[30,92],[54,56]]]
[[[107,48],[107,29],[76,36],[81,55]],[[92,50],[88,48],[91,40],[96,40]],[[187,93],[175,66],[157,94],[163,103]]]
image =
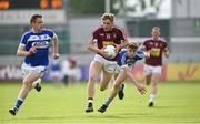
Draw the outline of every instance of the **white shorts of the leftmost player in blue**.
[[[36,72],[38,72],[40,74],[40,76],[42,76],[44,74],[46,70],[47,70],[47,66],[42,66],[42,65],[40,65],[40,66],[30,66],[30,65],[23,63],[21,65],[21,70],[22,70],[22,76],[23,78],[27,76],[31,71],[36,71]]]

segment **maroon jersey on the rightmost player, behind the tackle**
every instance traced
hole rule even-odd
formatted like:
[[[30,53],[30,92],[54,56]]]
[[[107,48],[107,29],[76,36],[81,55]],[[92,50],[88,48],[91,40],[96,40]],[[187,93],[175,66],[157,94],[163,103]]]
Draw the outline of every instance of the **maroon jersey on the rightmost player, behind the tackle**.
[[[146,59],[146,64],[152,66],[162,65],[162,53],[167,48],[167,43],[161,39],[159,40],[149,39],[143,42],[143,45],[147,51],[151,50],[150,58]]]

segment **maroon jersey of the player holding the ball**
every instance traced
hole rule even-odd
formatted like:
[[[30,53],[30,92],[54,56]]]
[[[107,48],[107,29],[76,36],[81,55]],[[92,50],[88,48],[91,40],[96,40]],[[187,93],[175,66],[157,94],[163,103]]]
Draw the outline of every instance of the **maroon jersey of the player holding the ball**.
[[[92,40],[97,43],[98,49],[106,48],[107,45],[121,44],[121,40],[127,40],[123,31],[118,27],[113,27],[111,31],[104,31],[102,27],[96,29],[92,33]],[[101,54],[100,54],[101,55]],[[107,59],[116,61],[114,59]]]

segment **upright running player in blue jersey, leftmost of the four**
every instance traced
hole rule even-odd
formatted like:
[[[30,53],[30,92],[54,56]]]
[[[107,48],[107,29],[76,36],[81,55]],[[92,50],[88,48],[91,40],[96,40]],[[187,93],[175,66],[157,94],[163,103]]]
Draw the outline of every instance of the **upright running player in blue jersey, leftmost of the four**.
[[[42,16],[33,14],[30,24],[32,29],[22,35],[17,51],[18,56],[24,58],[21,66],[23,81],[18,100],[14,106],[9,110],[12,115],[16,115],[31,87],[38,92],[41,90],[40,78],[49,64],[48,50],[51,41],[53,41],[53,58],[59,58],[58,37],[52,30],[43,29]]]

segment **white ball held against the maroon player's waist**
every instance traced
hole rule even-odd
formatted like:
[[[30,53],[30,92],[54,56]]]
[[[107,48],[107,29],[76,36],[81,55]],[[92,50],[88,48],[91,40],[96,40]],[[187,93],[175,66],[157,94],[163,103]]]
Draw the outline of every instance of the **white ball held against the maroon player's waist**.
[[[107,45],[104,49],[106,58],[113,59],[117,55],[116,48],[113,45]]]

